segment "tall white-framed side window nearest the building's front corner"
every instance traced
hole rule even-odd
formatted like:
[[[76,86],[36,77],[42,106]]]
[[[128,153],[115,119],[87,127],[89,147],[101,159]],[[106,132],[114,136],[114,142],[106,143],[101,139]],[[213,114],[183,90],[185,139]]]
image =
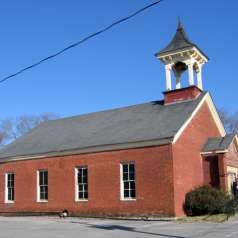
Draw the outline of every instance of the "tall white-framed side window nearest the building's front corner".
[[[121,164],[121,198],[125,200],[136,198],[135,164]]]

